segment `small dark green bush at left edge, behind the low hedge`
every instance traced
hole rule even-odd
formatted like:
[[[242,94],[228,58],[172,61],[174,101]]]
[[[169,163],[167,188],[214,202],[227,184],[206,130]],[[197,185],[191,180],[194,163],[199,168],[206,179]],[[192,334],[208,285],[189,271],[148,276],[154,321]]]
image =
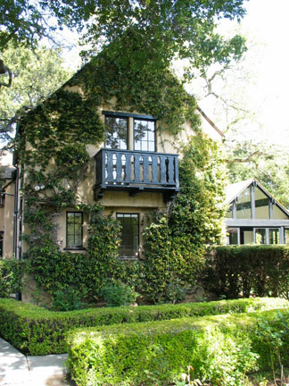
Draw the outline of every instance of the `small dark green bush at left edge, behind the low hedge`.
[[[0,258],[0,298],[8,298],[21,290],[25,262]]]

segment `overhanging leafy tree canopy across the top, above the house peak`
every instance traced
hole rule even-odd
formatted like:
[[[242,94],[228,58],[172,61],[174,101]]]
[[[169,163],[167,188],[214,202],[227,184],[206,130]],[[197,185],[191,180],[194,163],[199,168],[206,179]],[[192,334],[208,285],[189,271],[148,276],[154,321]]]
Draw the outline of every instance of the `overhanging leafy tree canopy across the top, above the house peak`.
[[[9,41],[35,45],[40,38],[54,38],[65,25],[78,32],[85,27],[82,41],[91,47],[88,54],[122,38],[118,49],[133,63],[168,65],[177,55],[202,68],[244,52],[244,38],[225,39],[215,32],[220,19],[244,16],[244,1],[9,0],[0,5],[0,50]],[[136,44],[129,44],[130,37]]]

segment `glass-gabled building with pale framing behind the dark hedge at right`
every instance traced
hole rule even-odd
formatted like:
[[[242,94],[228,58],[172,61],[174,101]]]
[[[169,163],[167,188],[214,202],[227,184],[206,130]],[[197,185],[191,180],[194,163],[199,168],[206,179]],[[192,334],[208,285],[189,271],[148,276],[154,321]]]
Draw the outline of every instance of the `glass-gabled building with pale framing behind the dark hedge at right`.
[[[227,244],[289,243],[289,212],[258,180],[228,185]]]

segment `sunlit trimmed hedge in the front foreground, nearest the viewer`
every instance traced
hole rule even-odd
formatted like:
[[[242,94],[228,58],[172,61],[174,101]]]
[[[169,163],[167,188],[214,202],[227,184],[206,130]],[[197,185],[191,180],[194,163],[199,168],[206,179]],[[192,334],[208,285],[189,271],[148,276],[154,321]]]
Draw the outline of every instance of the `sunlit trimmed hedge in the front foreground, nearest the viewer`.
[[[244,385],[245,373],[270,370],[274,342],[263,334],[289,325],[288,310],[282,313],[282,322],[273,310],[73,331],[68,338],[72,379],[78,386],[161,386],[179,382],[191,365],[191,380]],[[288,334],[283,338],[286,361]]]

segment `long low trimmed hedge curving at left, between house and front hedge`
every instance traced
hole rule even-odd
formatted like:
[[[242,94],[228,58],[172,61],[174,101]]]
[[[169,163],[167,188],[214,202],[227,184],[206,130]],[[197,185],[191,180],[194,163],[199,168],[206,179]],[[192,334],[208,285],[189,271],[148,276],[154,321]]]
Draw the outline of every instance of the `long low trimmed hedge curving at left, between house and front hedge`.
[[[88,308],[53,312],[38,306],[0,299],[0,335],[29,355],[61,354],[67,351],[65,334],[72,328],[114,323],[141,323],[179,317],[243,313],[289,306],[280,298],[221,300],[179,305]]]

